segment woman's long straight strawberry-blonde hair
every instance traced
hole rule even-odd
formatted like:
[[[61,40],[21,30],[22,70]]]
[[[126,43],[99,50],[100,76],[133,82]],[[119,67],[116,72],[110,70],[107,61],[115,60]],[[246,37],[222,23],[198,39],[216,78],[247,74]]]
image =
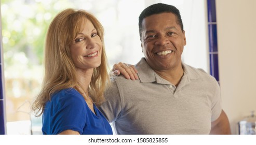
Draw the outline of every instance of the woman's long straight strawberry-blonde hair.
[[[85,10],[65,9],[51,22],[45,42],[45,76],[42,90],[32,104],[32,110],[39,117],[44,112],[46,102],[51,95],[78,84],[76,69],[71,59],[70,44],[78,35],[84,19],[91,21],[102,41],[101,65],[93,69],[88,93],[96,105],[104,100],[103,93],[110,82],[107,72],[107,59],[103,40],[103,26]]]

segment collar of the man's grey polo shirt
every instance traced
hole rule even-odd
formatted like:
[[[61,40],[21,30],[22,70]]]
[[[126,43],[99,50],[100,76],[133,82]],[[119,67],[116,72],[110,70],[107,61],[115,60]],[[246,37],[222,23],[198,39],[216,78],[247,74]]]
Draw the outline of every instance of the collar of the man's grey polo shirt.
[[[157,75],[156,72],[149,66],[149,64],[147,64],[144,57],[142,57],[139,63],[137,63],[135,66],[138,70],[138,76],[142,83],[156,82],[160,84],[171,84],[169,81]],[[198,73],[191,66],[182,63],[182,67],[184,70],[182,79],[186,78],[187,81],[190,81],[199,78]]]

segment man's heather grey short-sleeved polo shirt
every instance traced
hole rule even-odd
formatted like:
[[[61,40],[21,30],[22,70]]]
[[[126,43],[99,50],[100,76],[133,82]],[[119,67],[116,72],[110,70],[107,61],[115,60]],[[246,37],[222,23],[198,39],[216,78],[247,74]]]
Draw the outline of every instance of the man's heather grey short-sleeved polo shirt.
[[[158,76],[145,59],[136,65],[139,80],[112,77],[100,110],[117,134],[209,134],[221,113],[218,82],[202,69],[182,64],[176,86]]]

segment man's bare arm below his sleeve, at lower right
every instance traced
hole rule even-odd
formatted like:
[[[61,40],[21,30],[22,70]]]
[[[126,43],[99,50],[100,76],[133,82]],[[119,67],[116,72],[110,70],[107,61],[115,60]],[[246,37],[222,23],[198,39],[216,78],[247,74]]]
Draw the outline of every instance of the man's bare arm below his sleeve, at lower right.
[[[226,113],[222,110],[220,117],[211,122],[211,132],[212,135],[230,135],[230,122],[228,122]]]

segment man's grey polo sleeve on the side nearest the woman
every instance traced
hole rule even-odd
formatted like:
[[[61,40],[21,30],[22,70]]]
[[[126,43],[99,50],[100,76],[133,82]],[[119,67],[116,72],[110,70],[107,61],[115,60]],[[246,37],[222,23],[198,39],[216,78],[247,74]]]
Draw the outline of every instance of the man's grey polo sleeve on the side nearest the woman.
[[[109,122],[116,121],[122,112],[120,93],[115,79],[111,78],[111,86],[105,91],[106,101],[99,107],[99,110]]]

